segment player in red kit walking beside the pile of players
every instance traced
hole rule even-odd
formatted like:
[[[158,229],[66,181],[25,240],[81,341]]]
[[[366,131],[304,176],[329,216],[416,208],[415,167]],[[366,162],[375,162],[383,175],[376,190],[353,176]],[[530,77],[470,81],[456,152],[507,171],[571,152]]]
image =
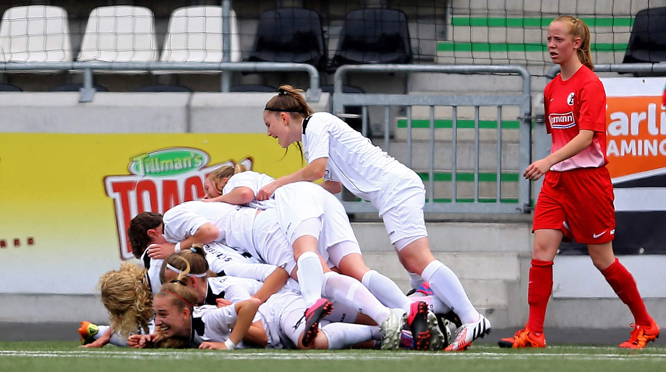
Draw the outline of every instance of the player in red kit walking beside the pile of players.
[[[615,208],[606,164],[606,95],[589,53],[587,25],[561,15],[548,26],[547,47],[561,72],[543,90],[546,130],[553,137],[551,154],[530,164],[523,176],[544,176],[534,210],[534,249],[529,269],[529,319],[501,347],[545,347],[543,318],[553,287],[553,259],[563,238],[587,244],[592,262],[635,323],[620,347],[643,348],[659,335],[631,273],[613,254]]]

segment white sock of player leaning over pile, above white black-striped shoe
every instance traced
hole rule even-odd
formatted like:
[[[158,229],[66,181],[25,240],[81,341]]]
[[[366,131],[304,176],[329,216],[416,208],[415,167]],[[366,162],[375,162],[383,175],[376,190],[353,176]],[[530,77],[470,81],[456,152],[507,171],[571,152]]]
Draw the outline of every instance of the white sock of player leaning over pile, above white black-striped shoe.
[[[430,262],[421,274],[437,297],[448,304],[453,311],[456,311],[460,321],[463,323],[472,323],[478,321],[479,312],[476,311],[472,302],[467,297],[460,279],[454,272],[439,260]]]

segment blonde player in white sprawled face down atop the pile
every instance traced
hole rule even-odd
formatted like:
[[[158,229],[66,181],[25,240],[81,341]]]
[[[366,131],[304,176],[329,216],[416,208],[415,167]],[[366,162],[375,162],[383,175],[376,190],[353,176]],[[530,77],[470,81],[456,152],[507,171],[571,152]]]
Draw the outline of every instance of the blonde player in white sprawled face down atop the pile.
[[[273,181],[274,178],[246,170],[240,164],[233,167],[222,166],[208,174],[205,182],[208,198],[204,201],[246,204],[260,209],[275,208],[284,232],[288,230],[285,226],[290,224],[298,226],[308,221],[303,217],[308,215],[302,212],[302,206],[323,206],[324,208],[315,210],[316,213],[310,214],[311,221],[314,221],[316,225],[316,230],[310,234],[320,231],[320,237],[324,238],[324,241],[319,244],[318,253],[328,258],[330,264],[340,270],[340,274],[351,276],[363,283],[387,307],[404,309],[406,315],[408,314],[407,323],[412,334],[418,335],[415,340],[415,349],[442,349],[444,347],[444,335],[439,332],[437,318],[432,311],[428,311],[427,304],[408,298],[394,281],[366,266],[344,207],[332,194],[312,182],[293,182],[278,188],[268,200],[256,200],[256,193]],[[312,210],[312,208],[309,209]],[[270,211],[264,213],[268,214]],[[310,287],[310,291],[316,292],[318,297],[324,281],[322,265],[318,261],[312,260],[314,268],[310,268],[306,266],[310,262],[302,260],[304,249],[309,248],[312,254],[316,254],[317,247],[297,247],[296,245],[293,247],[293,256],[298,260],[299,282]],[[423,319],[424,316],[425,319]],[[432,335],[433,337],[431,337],[432,332],[436,333]]]

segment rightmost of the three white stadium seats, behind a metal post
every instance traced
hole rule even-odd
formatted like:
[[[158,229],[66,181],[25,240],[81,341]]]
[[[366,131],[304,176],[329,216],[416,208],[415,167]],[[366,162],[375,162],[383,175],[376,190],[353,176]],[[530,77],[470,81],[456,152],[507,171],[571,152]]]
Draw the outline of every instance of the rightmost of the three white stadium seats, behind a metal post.
[[[240,62],[236,13],[231,11],[231,62]],[[202,5],[171,13],[161,62],[222,62],[222,7]]]

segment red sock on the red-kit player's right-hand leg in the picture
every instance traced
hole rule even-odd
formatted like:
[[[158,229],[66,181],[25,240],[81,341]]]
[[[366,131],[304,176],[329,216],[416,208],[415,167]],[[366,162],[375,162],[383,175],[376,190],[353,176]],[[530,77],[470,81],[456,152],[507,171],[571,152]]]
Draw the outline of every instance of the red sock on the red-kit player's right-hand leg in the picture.
[[[636,281],[629,270],[615,258],[615,262],[605,268],[601,274],[603,274],[606,281],[613,287],[613,291],[617,293],[617,297],[620,297],[622,302],[629,306],[634,322],[637,325],[649,327],[652,324],[652,318],[647,313],[647,309],[645,309],[641,293],[638,293]]]

